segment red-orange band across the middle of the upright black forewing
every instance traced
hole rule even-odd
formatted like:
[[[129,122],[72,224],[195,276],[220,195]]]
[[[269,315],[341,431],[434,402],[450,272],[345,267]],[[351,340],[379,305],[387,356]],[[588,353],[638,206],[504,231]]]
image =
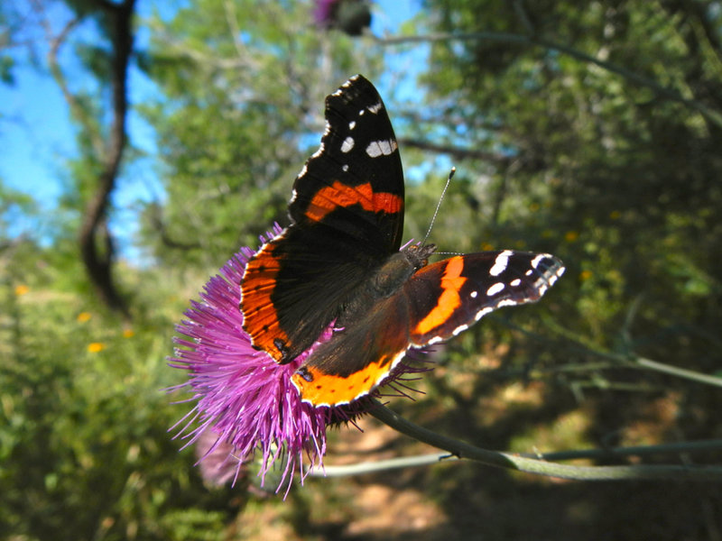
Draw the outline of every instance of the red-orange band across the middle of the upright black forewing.
[[[394,214],[403,209],[403,197],[387,192],[375,193],[369,182],[359,186],[347,186],[335,180],[332,186],[319,189],[305,214],[310,220],[319,222],[338,206],[354,205],[360,205],[370,212],[384,211]]]

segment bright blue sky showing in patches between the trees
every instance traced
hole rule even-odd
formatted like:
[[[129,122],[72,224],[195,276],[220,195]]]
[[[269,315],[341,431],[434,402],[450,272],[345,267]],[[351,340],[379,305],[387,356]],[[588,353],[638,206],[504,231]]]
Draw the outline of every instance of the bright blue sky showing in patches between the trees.
[[[20,0],[16,5],[16,9],[21,13],[30,10],[30,5],[23,6],[24,3],[25,0]],[[398,32],[399,25],[420,9],[418,0],[377,0],[375,4],[372,30],[376,35]],[[168,5],[176,4],[162,0],[139,3],[139,6],[142,6],[141,14],[150,13],[154,8],[167,11]],[[62,13],[53,14],[54,22],[60,24],[62,20]],[[81,31],[93,32],[92,28]],[[40,34],[32,37],[42,41]],[[139,41],[142,46],[142,35]],[[67,174],[63,171],[63,163],[75,154],[75,132],[69,122],[68,106],[60,88],[45,69],[23,64],[23,50],[16,52],[20,55],[20,60],[13,72],[14,85],[0,84],[0,179],[5,186],[32,194],[45,213],[52,213],[63,192],[64,183],[68,181]],[[41,52],[44,55],[45,51],[41,49]],[[391,56],[393,62],[403,64],[403,71],[409,71],[409,67],[418,61],[420,53],[423,54],[416,48],[406,56]],[[69,48],[66,48],[65,54],[67,56],[63,60],[71,63]],[[81,73],[79,70],[79,74]],[[72,82],[80,86],[91,84],[90,80],[82,78],[72,79]],[[131,72],[129,87],[131,103],[142,103],[154,92],[152,83],[135,69]],[[329,88],[330,90],[332,89]],[[153,154],[155,149],[152,127],[143,123],[133,112],[128,121],[129,134],[134,145]],[[150,167],[142,168],[136,165],[133,174],[126,174],[119,182],[114,197],[115,222],[123,226],[116,225],[114,233],[126,257],[134,258],[134,202],[139,199],[151,200],[159,195],[162,196],[162,184],[154,177]],[[36,231],[37,227],[37,224],[17,223],[11,228],[11,234]]]

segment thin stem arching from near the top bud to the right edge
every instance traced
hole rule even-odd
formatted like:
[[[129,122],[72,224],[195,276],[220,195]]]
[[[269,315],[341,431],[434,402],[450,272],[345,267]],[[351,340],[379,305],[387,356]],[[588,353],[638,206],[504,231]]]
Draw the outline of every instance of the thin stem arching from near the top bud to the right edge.
[[[694,100],[694,99],[687,99],[684,96],[682,96],[677,90],[670,87],[663,87],[661,84],[659,84],[657,81],[655,81],[653,78],[648,78],[643,75],[640,75],[639,73],[636,73],[632,71],[631,69],[623,68],[622,66],[617,66],[616,64],[612,62],[608,62],[606,60],[600,60],[597,59],[586,52],[582,52],[581,50],[574,49],[573,47],[569,47],[568,45],[564,45],[562,43],[557,43],[555,41],[545,40],[543,38],[538,38],[535,36],[526,36],[521,34],[515,34],[511,32],[459,32],[459,33],[447,33],[447,32],[440,32],[440,33],[430,33],[426,35],[417,35],[417,36],[396,36],[396,37],[386,37],[386,38],[378,38],[375,37],[375,41],[382,45],[399,45],[403,43],[419,43],[419,42],[434,42],[434,41],[480,41],[480,40],[489,40],[489,41],[505,41],[510,43],[518,43],[520,45],[528,45],[532,47],[542,47],[543,49],[547,50],[556,50],[558,52],[562,52],[564,54],[569,55],[570,57],[582,60],[584,62],[588,62],[590,64],[594,64],[598,66],[599,68],[606,69],[607,71],[611,73],[616,73],[617,75],[622,76],[623,78],[626,78],[629,81],[634,82],[637,85],[640,85],[642,87],[648,87],[652,88],[659,96],[665,97],[667,99],[670,99],[671,101],[679,102],[682,105],[687,105],[688,107],[695,109],[698,111],[701,115],[704,115],[710,122],[713,124],[717,124],[717,127],[722,128],[722,114],[719,112],[710,109],[707,105],[702,104],[701,102]]]

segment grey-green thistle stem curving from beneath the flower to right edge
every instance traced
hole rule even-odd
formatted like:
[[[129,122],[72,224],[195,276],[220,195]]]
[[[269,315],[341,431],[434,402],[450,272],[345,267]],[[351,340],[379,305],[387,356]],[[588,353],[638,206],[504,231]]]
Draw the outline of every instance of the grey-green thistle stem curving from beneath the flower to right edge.
[[[385,425],[391,426],[394,430],[425,444],[443,449],[452,456],[466,458],[496,468],[577,481],[722,481],[722,467],[720,466],[680,466],[672,464],[569,466],[567,464],[549,463],[519,454],[489,451],[437,434],[404,419],[391,409],[385,408],[378,401],[375,402],[375,408],[371,409],[369,413]],[[438,458],[437,455],[437,460]]]

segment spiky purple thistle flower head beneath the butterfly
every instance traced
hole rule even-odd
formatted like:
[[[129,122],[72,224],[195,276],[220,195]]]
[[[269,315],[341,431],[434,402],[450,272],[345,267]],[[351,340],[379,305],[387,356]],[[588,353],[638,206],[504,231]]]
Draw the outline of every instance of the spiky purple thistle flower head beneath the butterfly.
[[[282,231],[275,226],[267,234],[270,240]],[[261,238],[262,243],[264,238]],[[287,364],[279,364],[263,351],[256,350],[243,328],[240,283],[245,265],[254,251],[242,248],[208,280],[201,302],[191,301],[186,319],[176,330],[178,346],[170,365],[189,372],[190,380],[171,390],[191,390],[195,407],[171,429],[184,423],[180,435],[188,438],[185,446],[199,443],[199,462],[209,457],[228,481],[228,468],[233,467],[236,481],[243,464],[256,453],[261,454],[259,475],[262,483],[276,461],[282,463],[279,489],[284,480],[292,481],[300,472],[301,482],[314,468],[322,467],[326,453],[326,428],[353,418],[368,409],[368,399],[336,408],[314,408],[301,401],[291,376],[318,344],[329,340],[332,326],[309,351]],[[418,356],[414,356],[418,358]],[[401,362],[388,381],[397,381],[404,373],[425,371]],[[402,383],[403,386],[403,383]],[[397,394],[408,396],[399,388]],[[378,397],[378,391],[371,396]],[[226,449],[226,459],[219,457]],[[304,472],[304,455],[309,468]],[[225,472],[226,475],[223,475]]]

